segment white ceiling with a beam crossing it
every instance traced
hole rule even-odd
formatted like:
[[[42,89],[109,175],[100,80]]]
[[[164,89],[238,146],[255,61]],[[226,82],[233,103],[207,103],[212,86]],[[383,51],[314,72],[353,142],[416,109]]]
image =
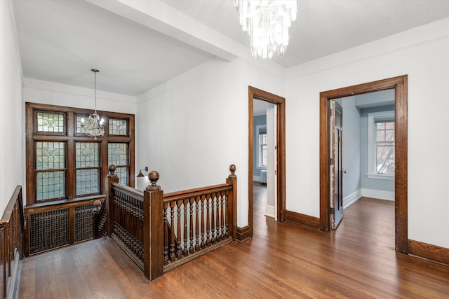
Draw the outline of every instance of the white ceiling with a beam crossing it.
[[[299,0],[294,67],[449,17],[448,0]],[[138,96],[199,64],[252,59],[233,0],[14,0],[23,76]]]

